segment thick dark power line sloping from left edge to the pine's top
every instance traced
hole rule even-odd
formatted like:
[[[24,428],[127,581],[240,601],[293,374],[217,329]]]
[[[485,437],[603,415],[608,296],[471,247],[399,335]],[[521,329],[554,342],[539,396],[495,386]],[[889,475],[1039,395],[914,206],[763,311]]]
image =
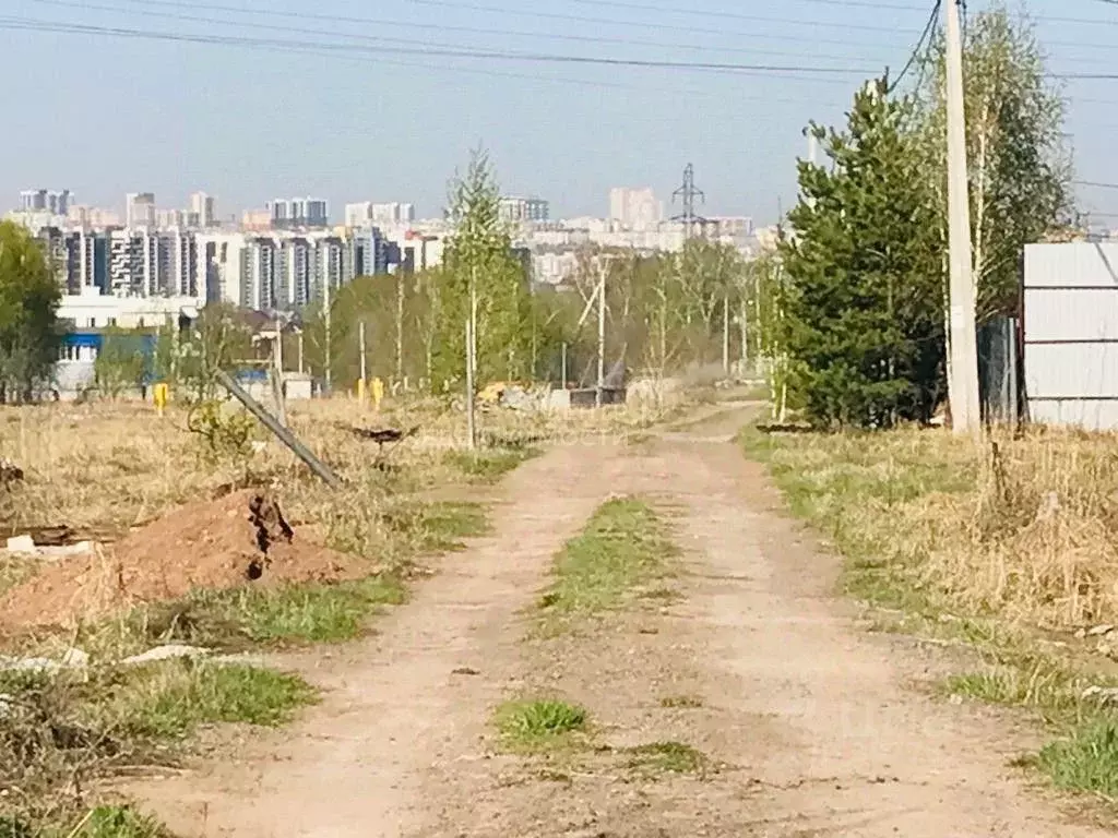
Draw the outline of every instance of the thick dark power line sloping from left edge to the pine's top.
[[[339,53],[362,53],[379,55],[433,56],[443,58],[471,58],[481,60],[523,61],[528,64],[590,65],[606,67],[638,67],[646,69],[704,70],[741,75],[766,75],[781,78],[797,76],[856,76],[870,75],[871,69],[858,67],[816,67],[811,65],[736,64],[729,61],[672,61],[641,58],[614,58],[604,56],[574,56],[550,53],[513,53],[493,49],[428,47],[363,46],[360,44],[335,44],[326,41],[299,41],[272,38],[249,38],[246,36],[196,35],[188,32],[165,32],[127,27],[103,27],[87,23],[56,23],[27,18],[0,18],[0,28],[30,31],[49,31],[72,35],[102,35],[148,40],[169,40],[190,44],[221,46],[268,46],[292,49],[312,48]],[[415,42],[415,41],[413,41]]]

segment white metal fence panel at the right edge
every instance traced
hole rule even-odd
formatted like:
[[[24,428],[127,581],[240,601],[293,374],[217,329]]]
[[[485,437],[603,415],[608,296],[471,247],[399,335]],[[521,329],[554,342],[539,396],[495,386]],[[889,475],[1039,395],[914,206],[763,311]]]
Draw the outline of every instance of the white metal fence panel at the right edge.
[[[1118,244],[1029,245],[1024,315],[1030,417],[1118,428]]]

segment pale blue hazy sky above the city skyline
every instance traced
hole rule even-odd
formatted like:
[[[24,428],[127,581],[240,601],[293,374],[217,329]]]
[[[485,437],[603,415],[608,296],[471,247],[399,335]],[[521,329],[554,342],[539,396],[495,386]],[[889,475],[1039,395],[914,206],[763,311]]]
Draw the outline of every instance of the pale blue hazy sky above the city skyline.
[[[362,200],[436,216],[447,180],[481,145],[502,190],[548,199],[552,217],[606,215],[614,185],[651,185],[671,211],[692,163],[701,212],[774,221],[795,200],[804,126],[841,122],[862,79],[896,74],[931,7],[2,0],[0,209],[32,188],[119,211],[126,192],[153,191],[172,208],[203,190],[222,217],[295,196],[326,198],[335,219]],[[972,15],[985,7],[969,0]],[[1116,76],[1067,80],[1064,92],[1077,177],[1118,183],[1118,2],[1024,7],[1053,73]],[[172,39],[138,35],[153,32]],[[499,57],[513,53],[536,59]],[[1082,187],[1080,199],[1118,222],[1118,189]]]

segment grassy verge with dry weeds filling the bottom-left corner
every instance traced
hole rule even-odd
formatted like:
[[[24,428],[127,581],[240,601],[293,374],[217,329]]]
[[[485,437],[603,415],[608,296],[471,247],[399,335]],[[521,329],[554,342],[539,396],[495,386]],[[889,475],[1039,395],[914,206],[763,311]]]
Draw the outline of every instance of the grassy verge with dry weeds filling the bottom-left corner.
[[[124,766],[172,763],[201,725],[277,725],[316,698],[294,675],[190,661],[4,673],[0,695],[0,835],[48,837],[161,835],[132,810],[87,810],[83,789]]]

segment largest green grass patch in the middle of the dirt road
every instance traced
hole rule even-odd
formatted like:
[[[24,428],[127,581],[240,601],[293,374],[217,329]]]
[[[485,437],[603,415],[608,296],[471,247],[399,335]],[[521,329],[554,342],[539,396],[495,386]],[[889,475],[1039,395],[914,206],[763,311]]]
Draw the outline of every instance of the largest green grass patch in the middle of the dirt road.
[[[607,501],[556,556],[556,581],[540,607],[556,629],[616,609],[639,585],[664,575],[678,553],[669,527],[647,503]]]

